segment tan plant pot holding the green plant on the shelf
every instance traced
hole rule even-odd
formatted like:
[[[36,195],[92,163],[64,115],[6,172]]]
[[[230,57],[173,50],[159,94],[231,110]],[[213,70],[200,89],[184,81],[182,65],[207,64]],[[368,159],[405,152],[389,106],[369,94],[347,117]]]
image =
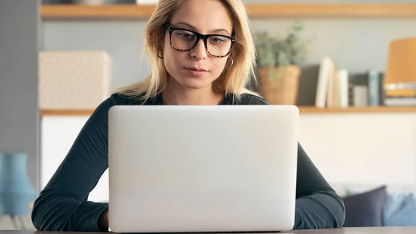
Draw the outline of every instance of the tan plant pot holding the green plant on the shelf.
[[[258,72],[261,94],[268,103],[272,105],[296,104],[300,67],[286,66],[277,77],[270,76],[269,67],[259,67]]]

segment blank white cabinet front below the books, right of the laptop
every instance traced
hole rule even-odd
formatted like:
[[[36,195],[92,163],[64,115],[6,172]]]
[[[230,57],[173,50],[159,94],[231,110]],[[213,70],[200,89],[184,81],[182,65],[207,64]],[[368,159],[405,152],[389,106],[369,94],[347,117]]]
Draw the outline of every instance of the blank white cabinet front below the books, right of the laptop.
[[[300,142],[331,183],[415,185],[416,114],[308,114]]]

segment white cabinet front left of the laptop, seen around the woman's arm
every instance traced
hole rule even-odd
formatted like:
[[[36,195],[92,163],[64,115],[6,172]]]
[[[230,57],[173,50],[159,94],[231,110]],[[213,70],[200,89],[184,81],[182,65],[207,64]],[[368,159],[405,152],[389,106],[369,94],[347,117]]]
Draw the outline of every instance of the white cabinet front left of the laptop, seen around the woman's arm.
[[[44,116],[41,121],[40,185],[49,182],[81,128],[87,116]],[[108,170],[89,194],[89,201],[108,201]]]

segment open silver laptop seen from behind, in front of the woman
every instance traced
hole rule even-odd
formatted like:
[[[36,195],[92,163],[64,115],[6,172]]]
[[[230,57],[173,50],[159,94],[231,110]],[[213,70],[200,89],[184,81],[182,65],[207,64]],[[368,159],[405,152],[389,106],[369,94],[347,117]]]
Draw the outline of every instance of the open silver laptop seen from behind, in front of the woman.
[[[291,230],[298,117],[295,106],[110,108],[110,230]]]

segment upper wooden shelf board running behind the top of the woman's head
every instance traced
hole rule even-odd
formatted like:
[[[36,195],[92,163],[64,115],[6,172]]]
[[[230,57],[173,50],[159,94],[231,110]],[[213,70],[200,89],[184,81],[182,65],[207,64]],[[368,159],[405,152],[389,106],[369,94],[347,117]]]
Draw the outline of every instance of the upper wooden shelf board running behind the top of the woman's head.
[[[416,3],[268,3],[247,4],[252,18],[382,17],[416,18]],[[42,5],[42,19],[146,19],[155,5]]]

